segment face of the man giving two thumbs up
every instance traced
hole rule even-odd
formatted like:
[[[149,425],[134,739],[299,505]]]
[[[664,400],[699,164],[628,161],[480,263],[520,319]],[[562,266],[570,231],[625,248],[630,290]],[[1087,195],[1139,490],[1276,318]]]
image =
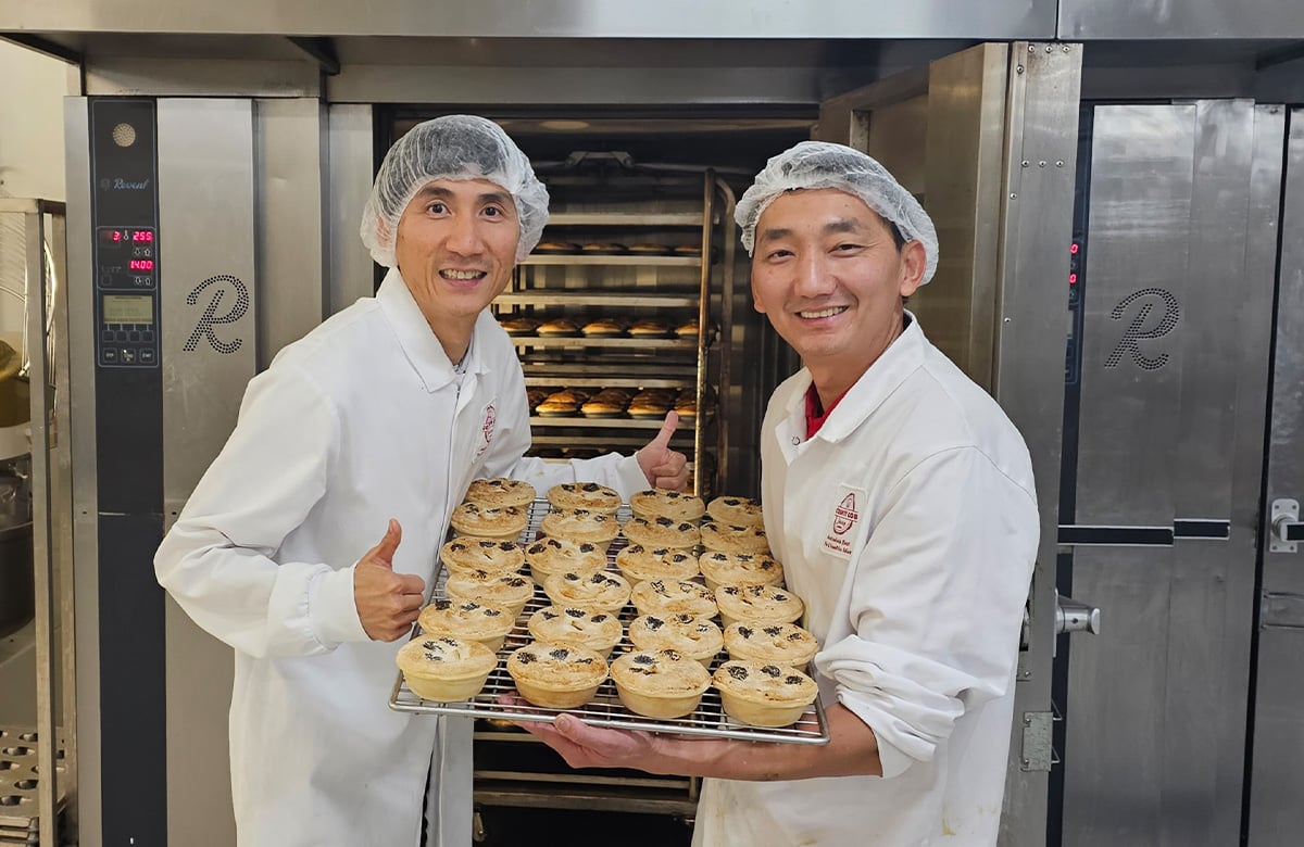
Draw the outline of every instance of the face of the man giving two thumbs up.
[[[519,238],[511,194],[488,180],[428,182],[403,210],[398,268],[446,349],[466,352],[476,318],[511,281]]]

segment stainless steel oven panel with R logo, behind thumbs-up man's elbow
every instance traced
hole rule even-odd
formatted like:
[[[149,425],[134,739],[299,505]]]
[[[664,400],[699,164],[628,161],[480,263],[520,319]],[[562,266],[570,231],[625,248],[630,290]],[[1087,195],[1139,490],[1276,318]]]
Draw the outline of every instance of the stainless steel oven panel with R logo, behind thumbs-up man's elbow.
[[[235,426],[256,369],[253,103],[159,100],[158,134],[163,493],[170,525]],[[230,844],[231,649],[171,599],[166,628],[168,840]]]

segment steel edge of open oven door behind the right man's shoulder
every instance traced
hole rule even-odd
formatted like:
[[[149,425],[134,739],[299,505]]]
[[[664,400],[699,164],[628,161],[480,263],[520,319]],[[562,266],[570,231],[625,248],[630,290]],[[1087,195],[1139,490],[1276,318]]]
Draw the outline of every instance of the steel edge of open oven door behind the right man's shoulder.
[[[1064,245],[1073,223],[1082,51],[1080,44],[1016,42],[1008,61],[991,390],[1028,443],[1041,507],[1029,593],[1030,642],[1020,658],[1015,691],[1015,726],[1022,727],[1021,715],[1034,719],[1051,711],[1064,408],[1064,288],[1055,280],[1068,274]],[[1021,168],[1024,159],[1046,160],[1047,167]],[[975,242],[975,255],[979,249]],[[1047,774],[1024,769],[1020,736],[1016,731],[1012,739],[1001,843],[1038,844],[1046,835]]]

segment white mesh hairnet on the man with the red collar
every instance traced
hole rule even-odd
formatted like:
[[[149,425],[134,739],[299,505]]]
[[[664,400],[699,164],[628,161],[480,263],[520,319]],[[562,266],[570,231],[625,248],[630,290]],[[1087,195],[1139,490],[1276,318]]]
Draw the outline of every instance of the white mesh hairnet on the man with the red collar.
[[[742,229],[747,255],[756,249],[756,222],[780,194],[820,188],[836,188],[859,197],[884,220],[895,223],[908,241],[922,244],[927,265],[919,284],[932,279],[938,270],[938,231],[919,201],[872,158],[823,141],[803,141],[772,158],[738,201],[734,220]]]

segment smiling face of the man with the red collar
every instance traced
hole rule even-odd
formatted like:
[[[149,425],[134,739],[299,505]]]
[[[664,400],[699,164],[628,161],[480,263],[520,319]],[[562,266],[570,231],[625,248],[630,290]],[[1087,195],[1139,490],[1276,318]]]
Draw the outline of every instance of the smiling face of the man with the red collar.
[[[812,371],[845,391],[901,334],[923,278],[918,241],[897,249],[883,218],[837,189],[775,199],[756,222],[751,292]]]

